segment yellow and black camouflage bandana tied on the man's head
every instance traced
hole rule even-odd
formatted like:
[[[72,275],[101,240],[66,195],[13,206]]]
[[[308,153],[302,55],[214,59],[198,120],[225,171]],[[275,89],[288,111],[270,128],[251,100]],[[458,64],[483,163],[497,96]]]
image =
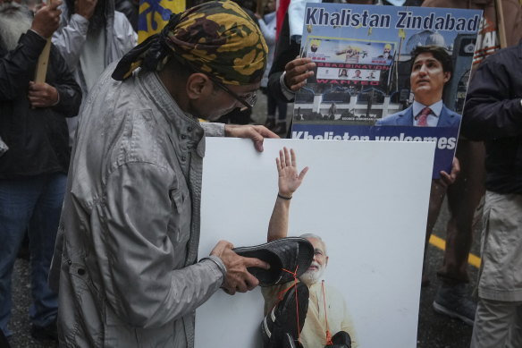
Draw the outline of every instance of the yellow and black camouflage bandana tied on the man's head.
[[[246,85],[261,81],[267,47],[257,24],[232,1],[211,1],[173,14],[164,30],[122,57],[113,72],[122,81],[144,65],[159,71],[174,56],[218,81]]]

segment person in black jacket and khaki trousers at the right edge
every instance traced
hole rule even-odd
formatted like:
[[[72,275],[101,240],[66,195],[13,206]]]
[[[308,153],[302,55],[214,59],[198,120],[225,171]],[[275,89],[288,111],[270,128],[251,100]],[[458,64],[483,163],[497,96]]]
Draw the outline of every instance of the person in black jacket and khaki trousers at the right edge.
[[[487,57],[467,90],[462,134],[484,140],[482,267],[471,348],[521,347],[522,40]]]

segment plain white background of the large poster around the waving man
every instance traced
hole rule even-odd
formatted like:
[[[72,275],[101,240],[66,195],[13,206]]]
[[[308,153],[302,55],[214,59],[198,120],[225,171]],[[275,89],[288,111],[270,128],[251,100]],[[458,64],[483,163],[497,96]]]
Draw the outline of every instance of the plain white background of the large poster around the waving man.
[[[346,304],[353,348],[416,348],[425,244],[419,232],[434,143],[266,139],[259,153],[250,140],[207,138],[198,258],[220,240],[236,247],[266,242],[283,146],[295,150],[299,171],[309,167],[290,201],[288,235],[323,239],[324,282]],[[262,347],[264,304],[259,288],[233,296],[218,291],[196,310],[195,347]]]

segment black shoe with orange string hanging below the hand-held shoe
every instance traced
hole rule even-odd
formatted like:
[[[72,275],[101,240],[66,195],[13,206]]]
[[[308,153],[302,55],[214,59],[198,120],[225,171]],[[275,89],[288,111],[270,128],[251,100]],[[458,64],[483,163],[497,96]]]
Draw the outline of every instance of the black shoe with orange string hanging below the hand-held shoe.
[[[296,308],[296,295],[299,308]],[[284,294],[282,301],[278,302],[273,310],[270,310],[261,322],[264,348],[291,347],[289,344],[292,343],[299,347],[298,343],[293,340],[293,337],[299,337],[299,333],[305,325],[308,311],[308,296],[307,285],[298,283],[290,287]],[[291,343],[289,342],[289,336]]]

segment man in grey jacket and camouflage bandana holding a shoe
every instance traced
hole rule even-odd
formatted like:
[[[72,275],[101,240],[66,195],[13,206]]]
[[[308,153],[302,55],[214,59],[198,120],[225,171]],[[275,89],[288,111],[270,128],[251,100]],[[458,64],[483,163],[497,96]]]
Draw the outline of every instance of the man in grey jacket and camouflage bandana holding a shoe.
[[[268,265],[230,242],[198,261],[205,136],[262,150],[276,135],[198,118],[253,106],[266,52],[237,4],[209,2],[173,16],[91,90],[50,275],[61,346],[193,347],[198,306],[220,287],[257,286],[247,267]]]

